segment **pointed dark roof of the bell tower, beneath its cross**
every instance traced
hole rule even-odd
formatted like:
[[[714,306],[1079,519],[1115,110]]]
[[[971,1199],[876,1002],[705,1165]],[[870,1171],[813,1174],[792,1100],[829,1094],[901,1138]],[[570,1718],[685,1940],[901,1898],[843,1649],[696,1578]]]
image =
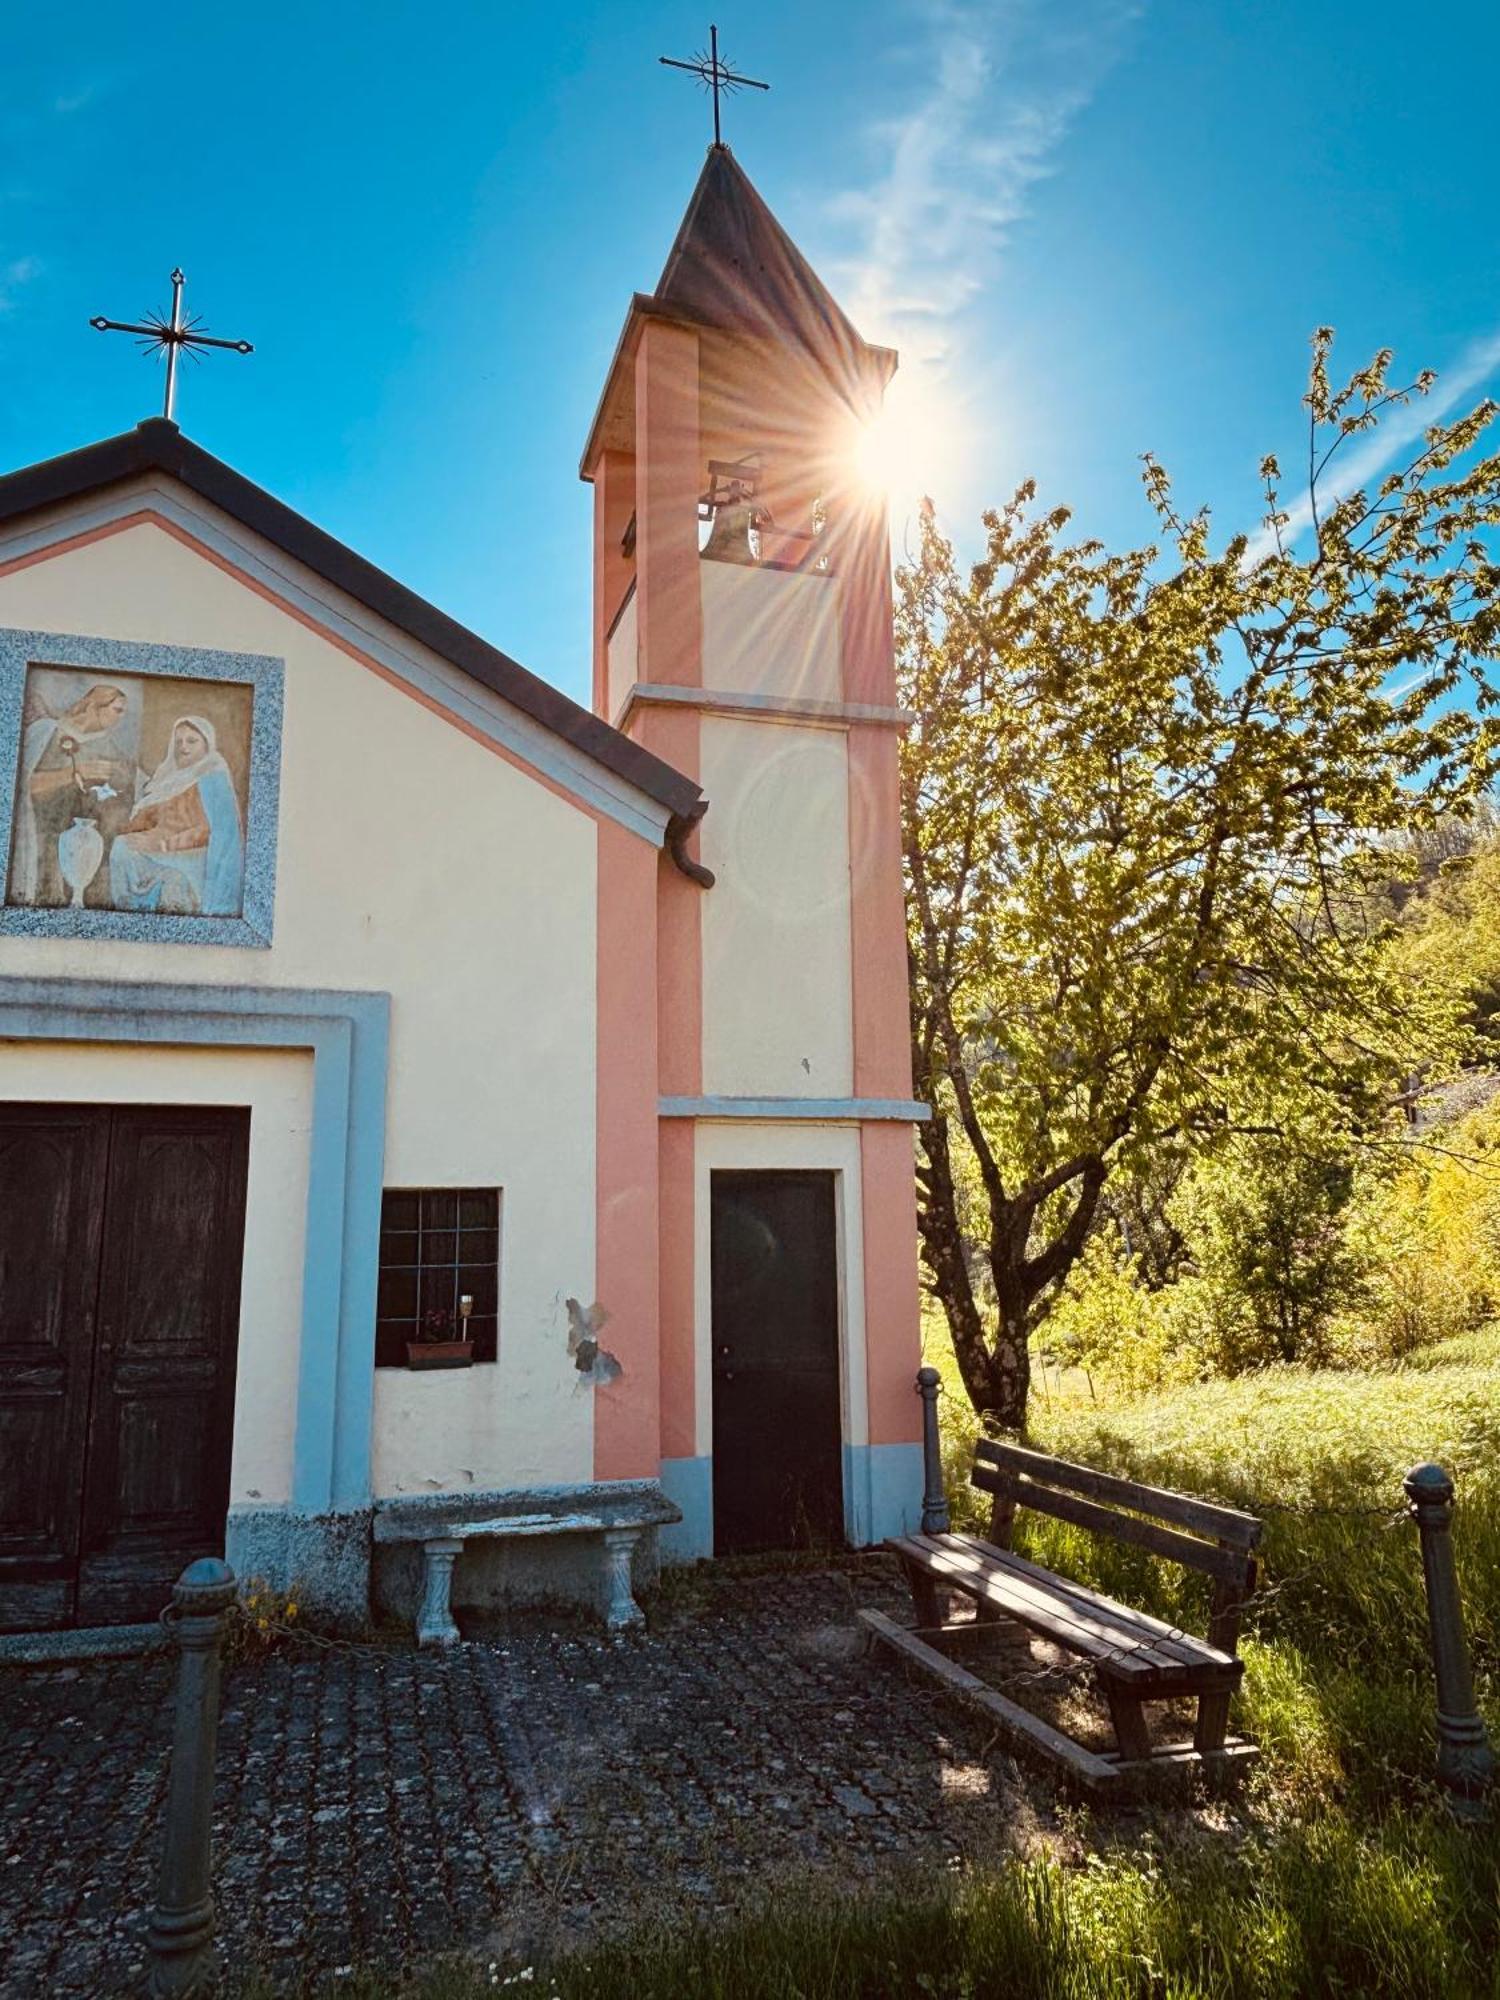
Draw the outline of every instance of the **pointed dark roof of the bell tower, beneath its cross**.
[[[796,354],[848,404],[896,372],[896,352],[864,340],[766,206],[728,146],[708,148],[654,292],[636,292],[590,426],[580,474],[600,448],[630,448],[628,376],[646,320],[676,320],[710,338]]]

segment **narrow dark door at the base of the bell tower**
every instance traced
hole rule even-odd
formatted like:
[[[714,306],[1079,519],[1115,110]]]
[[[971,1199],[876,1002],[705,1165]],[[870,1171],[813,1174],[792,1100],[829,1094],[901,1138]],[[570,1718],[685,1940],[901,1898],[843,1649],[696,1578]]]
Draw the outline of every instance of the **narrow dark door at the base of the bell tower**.
[[[714,1548],[844,1540],[834,1176],[712,1178]]]

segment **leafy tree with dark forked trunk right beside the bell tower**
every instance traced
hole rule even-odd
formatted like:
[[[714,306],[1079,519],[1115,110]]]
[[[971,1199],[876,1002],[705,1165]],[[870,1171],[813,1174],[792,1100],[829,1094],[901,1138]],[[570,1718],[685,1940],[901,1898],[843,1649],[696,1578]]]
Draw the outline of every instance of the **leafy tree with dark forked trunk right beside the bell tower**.
[[[922,1250],[1006,1426],[1112,1178],[1304,1120],[1372,1136],[1458,1046],[1380,948],[1382,892],[1494,770],[1496,410],[1340,494],[1340,450],[1432,378],[1378,354],[1334,390],[1330,342],[1306,534],[1268,458],[1260,534],[1216,552],[1148,458],[1160,548],[1070,544],[1022,486],[968,576],[930,508],[898,572]]]

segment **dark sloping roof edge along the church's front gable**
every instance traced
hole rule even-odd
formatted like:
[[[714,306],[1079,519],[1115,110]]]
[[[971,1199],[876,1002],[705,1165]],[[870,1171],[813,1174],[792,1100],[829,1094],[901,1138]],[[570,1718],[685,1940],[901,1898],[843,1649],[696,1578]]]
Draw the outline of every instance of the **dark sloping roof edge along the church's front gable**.
[[[406,584],[378,570],[332,534],[316,528],[262,486],[184,438],[176,424],[152,416],[134,430],[58,458],[40,460],[0,476],[0,522],[20,520],[42,508],[78,500],[82,494],[142,472],[166,472],[202,500],[222,508],[232,520],[264,536],[274,548],[306,564],[324,582],[376,612],[396,630],[428,646],[440,658],[490,688],[542,728],[582,750],[596,764],[624,778],[668,814],[692,814],[702,790],[662,758],[642,750],[620,730],[592,716],[560,688],[540,680],[510,654],[490,646],[468,626],[428,604]]]

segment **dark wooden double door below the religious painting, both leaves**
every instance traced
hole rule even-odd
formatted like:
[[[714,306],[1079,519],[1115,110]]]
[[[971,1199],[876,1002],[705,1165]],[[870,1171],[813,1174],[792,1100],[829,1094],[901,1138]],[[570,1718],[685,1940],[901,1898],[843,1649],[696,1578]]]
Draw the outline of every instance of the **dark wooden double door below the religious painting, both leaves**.
[[[222,1552],[248,1152],[238,1108],[0,1104],[0,1630]]]

